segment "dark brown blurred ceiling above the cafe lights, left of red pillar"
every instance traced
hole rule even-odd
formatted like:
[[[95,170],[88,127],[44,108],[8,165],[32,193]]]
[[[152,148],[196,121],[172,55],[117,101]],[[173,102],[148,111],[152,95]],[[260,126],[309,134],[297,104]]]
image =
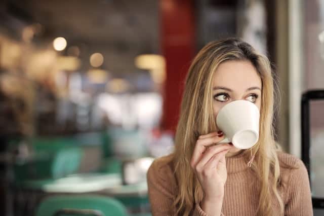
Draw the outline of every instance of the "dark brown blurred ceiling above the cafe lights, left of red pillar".
[[[134,70],[135,56],[159,52],[158,1],[10,0],[5,7],[19,19],[43,25],[42,40],[64,37],[68,46],[79,46],[84,60],[102,52],[109,70]]]

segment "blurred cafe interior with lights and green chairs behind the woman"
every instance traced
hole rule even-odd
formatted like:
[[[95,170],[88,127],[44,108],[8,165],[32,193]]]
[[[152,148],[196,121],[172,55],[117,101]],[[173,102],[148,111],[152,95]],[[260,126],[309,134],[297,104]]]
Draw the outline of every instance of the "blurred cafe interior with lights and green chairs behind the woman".
[[[276,139],[302,157],[302,94],[324,89],[324,1],[2,0],[0,214],[151,215],[146,172],[173,151],[190,61],[228,37],[270,58]],[[313,156],[324,150],[316,106]]]

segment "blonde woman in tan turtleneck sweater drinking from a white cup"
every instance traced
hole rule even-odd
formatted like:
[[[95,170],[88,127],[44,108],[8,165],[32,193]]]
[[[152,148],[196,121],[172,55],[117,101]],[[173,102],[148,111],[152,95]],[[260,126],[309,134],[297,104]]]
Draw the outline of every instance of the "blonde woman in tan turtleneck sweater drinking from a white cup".
[[[147,174],[153,215],[312,215],[304,164],[280,152],[273,138],[274,86],[269,60],[241,40],[212,42],[197,54],[175,152],[156,159]],[[214,145],[224,138],[218,111],[242,99],[260,110],[258,142],[248,150]]]

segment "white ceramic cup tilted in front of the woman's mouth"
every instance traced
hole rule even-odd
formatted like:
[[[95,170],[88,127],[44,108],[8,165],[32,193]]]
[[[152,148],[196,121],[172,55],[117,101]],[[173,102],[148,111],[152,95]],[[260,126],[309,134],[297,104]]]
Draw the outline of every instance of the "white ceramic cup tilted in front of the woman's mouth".
[[[249,149],[259,139],[260,111],[247,100],[235,100],[223,106],[216,117],[225,138],[219,143],[232,142],[237,149]]]

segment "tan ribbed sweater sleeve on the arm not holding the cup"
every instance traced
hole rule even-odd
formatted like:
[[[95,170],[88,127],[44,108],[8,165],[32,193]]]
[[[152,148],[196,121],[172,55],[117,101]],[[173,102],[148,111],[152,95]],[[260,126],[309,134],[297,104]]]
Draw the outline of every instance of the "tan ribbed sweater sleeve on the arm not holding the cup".
[[[299,159],[296,167],[291,170],[288,181],[285,215],[311,216],[313,208],[307,169]]]

